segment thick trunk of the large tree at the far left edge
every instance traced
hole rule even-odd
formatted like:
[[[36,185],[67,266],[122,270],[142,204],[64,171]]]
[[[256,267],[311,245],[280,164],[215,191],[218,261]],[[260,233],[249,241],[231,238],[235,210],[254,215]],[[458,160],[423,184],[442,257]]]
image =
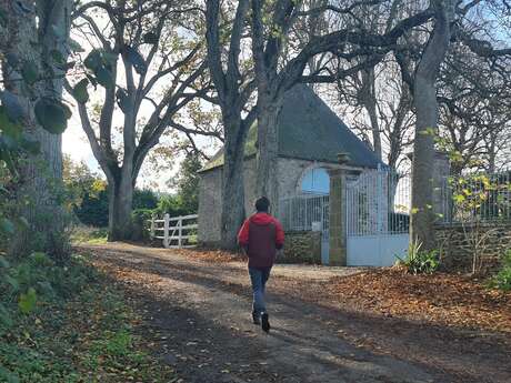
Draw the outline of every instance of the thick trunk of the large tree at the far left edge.
[[[60,134],[50,134],[38,125],[33,105],[42,97],[61,98],[64,72],[56,68],[51,51],[58,50],[64,59],[68,58],[67,36],[73,2],[60,0],[52,8],[39,2],[32,3],[33,12],[24,17],[17,16],[17,10],[12,8],[16,4],[6,6],[4,1],[0,1],[0,4],[10,13],[8,53],[19,58],[20,62],[32,63],[38,68],[39,78],[48,78],[36,82],[31,91],[27,91],[27,85],[19,81],[20,71],[7,68],[7,63],[3,63],[4,73],[9,73],[6,89],[14,93],[26,107],[24,135],[38,141],[41,149],[40,154],[27,155],[20,164],[17,198],[20,215],[28,220],[29,228],[20,229],[10,251],[18,255],[44,251],[62,261],[69,253],[68,240],[63,233],[64,210],[60,203],[62,140]],[[48,26],[54,26],[54,30],[63,32],[64,37],[58,37]]]

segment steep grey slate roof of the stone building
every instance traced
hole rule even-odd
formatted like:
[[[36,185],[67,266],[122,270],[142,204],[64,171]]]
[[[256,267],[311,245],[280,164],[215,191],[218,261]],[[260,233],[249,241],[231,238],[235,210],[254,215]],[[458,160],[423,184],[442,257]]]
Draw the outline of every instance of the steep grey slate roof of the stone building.
[[[284,95],[279,115],[279,157],[338,163],[338,153],[349,153],[348,164],[378,168],[384,164],[313,92],[299,84]],[[257,124],[250,128],[246,157],[255,154]],[[202,171],[223,164],[220,150]]]

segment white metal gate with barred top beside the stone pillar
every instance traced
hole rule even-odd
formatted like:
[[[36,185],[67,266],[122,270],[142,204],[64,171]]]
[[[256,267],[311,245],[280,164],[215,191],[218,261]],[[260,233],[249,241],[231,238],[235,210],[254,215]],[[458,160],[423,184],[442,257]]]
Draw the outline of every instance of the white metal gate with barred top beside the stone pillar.
[[[409,244],[410,179],[364,172],[345,185],[347,264],[390,266]]]

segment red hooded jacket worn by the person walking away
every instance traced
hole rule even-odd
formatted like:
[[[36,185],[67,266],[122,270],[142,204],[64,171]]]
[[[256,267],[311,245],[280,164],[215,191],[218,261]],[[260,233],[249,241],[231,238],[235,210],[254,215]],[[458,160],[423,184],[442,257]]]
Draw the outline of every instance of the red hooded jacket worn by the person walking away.
[[[282,249],[284,244],[284,231],[275,218],[255,213],[244,221],[238,242],[249,255],[249,268],[271,268],[277,249]]]

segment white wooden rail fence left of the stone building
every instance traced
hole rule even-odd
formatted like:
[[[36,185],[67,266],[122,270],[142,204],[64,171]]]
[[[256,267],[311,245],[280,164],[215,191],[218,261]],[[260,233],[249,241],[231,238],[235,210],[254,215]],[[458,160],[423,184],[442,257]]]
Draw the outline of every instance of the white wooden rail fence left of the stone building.
[[[166,214],[162,220],[150,220],[151,239],[163,241],[167,249],[183,249],[196,246],[198,215],[170,216]]]

